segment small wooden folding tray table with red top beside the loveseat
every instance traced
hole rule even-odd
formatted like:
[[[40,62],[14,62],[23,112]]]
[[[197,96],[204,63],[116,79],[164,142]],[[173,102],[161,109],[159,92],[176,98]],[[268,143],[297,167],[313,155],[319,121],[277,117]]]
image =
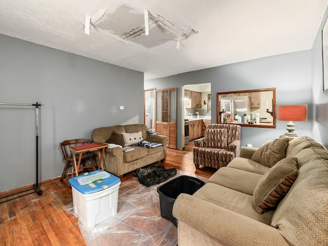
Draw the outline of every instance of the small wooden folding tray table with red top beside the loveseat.
[[[68,149],[71,151],[73,160],[74,160],[75,175],[78,176],[78,170],[80,169],[81,157],[82,157],[83,152],[97,150],[98,157],[99,157],[98,169],[101,168],[104,170],[103,156],[104,156],[105,149],[107,147],[108,147],[107,144],[103,144],[101,142],[92,142],[91,144],[87,144],[87,145],[78,145],[78,146],[69,147]],[[76,154],[79,154],[77,164],[76,164],[76,157],[75,157]]]

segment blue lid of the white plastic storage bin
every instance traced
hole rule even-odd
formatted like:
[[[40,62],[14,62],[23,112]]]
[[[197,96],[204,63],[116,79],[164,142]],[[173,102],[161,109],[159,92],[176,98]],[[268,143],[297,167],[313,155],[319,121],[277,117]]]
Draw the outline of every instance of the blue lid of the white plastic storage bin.
[[[96,170],[96,171],[89,172],[88,175],[95,174],[95,173],[98,173],[98,172],[106,172],[106,171]],[[92,193],[95,193],[95,192],[98,192],[98,191],[105,190],[105,188],[107,189],[107,188],[110,188],[112,186],[115,186],[117,183],[119,183],[121,181],[115,175],[110,174],[109,178],[105,178],[105,179],[90,183],[88,185],[81,186],[78,183],[77,179],[79,177],[82,177],[82,176],[85,176],[85,174],[70,178],[68,180],[68,182],[70,183],[70,185],[72,187],[74,187],[74,189],[76,189],[77,191],[79,191],[80,193],[82,193],[84,195],[88,195],[88,194],[92,194]]]

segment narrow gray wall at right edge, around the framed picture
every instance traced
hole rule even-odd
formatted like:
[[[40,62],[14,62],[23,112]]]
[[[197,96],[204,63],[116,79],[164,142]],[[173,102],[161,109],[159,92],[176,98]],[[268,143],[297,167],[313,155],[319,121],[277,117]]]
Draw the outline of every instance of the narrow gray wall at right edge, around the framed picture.
[[[312,136],[328,148],[328,94],[323,94],[322,72],[322,28],[328,16],[326,11],[312,48],[312,97],[313,124]],[[328,66],[326,64],[325,66]],[[328,81],[327,81],[328,83]]]

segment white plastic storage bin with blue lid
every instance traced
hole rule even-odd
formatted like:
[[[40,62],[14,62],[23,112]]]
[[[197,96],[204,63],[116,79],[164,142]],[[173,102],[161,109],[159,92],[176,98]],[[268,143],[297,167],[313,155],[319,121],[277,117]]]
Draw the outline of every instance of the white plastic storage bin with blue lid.
[[[106,171],[96,170],[88,173],[88,175],[97,172]],[[109,178],[82,186],[77,181],[81,176],[68,180],[72,186],[74,212],[87,227],[94,227],[101,221],[117,214],[120,179],[111,174]]]

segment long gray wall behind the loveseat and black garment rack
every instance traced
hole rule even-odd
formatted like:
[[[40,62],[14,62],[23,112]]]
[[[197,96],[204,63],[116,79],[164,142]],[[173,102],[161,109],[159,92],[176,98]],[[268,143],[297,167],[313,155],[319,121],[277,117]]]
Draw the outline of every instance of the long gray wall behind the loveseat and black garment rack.
[[[0,53],[0,103],[42,104],[40,181],[63,172],[61,141],[143,124],[143,73],[5,35]],[[0,129],[0,192],[35,183],[35,107],[0,106]]]

